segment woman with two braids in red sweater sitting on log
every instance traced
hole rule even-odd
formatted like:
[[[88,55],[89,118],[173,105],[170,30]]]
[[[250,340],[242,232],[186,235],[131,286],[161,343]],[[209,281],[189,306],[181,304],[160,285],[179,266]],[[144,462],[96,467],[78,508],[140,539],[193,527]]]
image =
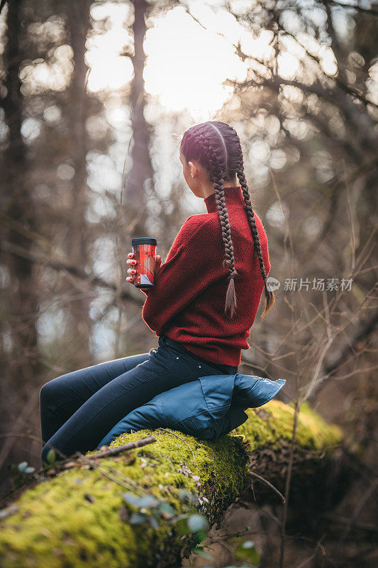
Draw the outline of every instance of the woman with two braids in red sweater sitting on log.
[[[262,317],[274,304],[267,236],[252,209],[238,134],[219,121],[192,126],[180,160],[207,212],[187,219],[165,263],[156,257],[155,287],[142,289],[143,320],[159,336],[158,347],[41,388],[43,464],[50,449],[57,459],[95,449],[116,422],[159,393],[201,376],[237,373],[262,290]],[[133,283],[135,260],[128,256],[126,280]]]

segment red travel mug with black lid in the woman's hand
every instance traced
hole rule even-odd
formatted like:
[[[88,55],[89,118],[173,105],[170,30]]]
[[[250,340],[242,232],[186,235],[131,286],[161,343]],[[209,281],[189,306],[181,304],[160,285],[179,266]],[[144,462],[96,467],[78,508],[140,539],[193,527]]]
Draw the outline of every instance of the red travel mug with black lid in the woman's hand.
[[[155,286],[156,239],[150,236],[138,236],[131,241],[133,247],[135,288],[153,288]]]

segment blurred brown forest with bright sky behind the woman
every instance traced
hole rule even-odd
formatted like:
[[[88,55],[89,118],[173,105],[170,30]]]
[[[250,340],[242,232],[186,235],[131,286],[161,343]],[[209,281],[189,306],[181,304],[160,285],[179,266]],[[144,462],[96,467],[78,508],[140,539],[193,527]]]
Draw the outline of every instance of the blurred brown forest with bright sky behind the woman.
[[[44,383],[157,345],[126,255],[133,236],[155,236],[164,261],[185,219],[206,212],[178,148],[189,126],[217,119],[240,136],[277,280],[239,370],[286,378],[285,402],[307,400],[362,448],[329,530],[296,532],[287,565],[373,565],[377,4],[1,4],[0,493],[11,464],[40,466]],[[272,508],[230,519],[251,525],[267,566]],[[214,546],[225,566],[230,550]]]

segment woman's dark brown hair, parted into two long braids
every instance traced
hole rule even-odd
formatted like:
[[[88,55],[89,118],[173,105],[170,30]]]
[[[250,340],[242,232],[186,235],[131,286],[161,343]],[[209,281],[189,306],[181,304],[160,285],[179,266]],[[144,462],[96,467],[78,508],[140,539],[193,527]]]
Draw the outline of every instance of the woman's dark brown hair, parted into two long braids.
[[[265,274],[265,266],[262,261],[255,214],[252,209],[247,181],[245,180],[243,151],[238,134],[232,126],[225,122],[207,121],[196,124],[195,126],[191,126],[191,128],[184,133],[184,136],[182,136],[180,151],[187,163],[189,163],[190,160],[198,161],[206,172],[209,173],[209,180],[213,182],[214,185],[216,207],[218,208],[225,249],[223,266],[228,268],[230,272],[225,305],[225,314],[229,315],[230,318],[233,317],[237,307],[234,280],[239,274],[235,269],[233,241],[231,239],[231,229],[223,183],[225,181],[235,180],[235,174],[238,176],[247,209],[248,222],[255,244],[254,250],[255,253],[257,253],[262,278],[264,280],[265,307],[261,316],[264,318],[272,305],[274,305],[275,297],[272,290],[268,290],[267,288],[267,275]]]

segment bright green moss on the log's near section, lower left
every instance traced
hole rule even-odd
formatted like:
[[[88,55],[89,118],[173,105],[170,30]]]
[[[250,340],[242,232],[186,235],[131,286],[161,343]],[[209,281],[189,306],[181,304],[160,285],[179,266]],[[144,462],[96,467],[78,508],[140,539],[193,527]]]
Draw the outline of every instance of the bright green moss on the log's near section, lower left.
[[[151,432],[125,434],[111,445],[117,447]],[[118,485],[94,469],[70,469],[23,493],[17,501],[18,513],[1,523],[1,566],[42,567],[47,560],[51,568],[84,567],[88,562],[95,567],[109,563],[122,567],[152,565],[157,546],[152,547],[151,542],[164,545],[172,525],[161,523],[160,529],[152,530],[146,525],[121,521],[121,505],[127,508],[122,498],[124,491],[153,494],[179,512],[200,510],[210,522],[223,499],[227,503],[235,501],[248,473],[240,437],[223,437],[206,444],[182,432],[177,432],[182,439],[159,430],[154,435],[157,442],[131,450],[135,456],[131,464],[127,463],[126,454],[99,460],[102,472],[110,473],[112,469],[112,475],[118,472],[137,482],[135,490]],[[93,453],[96,452],[87,455]],[[180,462],[191,473],[178,471]],[[199,476],[199,481],[193,476]],[[188,505],[179,498],[179,488],[202,494],[209,503]],[[176,545],[182,546],[179,536],[176,537]]]

